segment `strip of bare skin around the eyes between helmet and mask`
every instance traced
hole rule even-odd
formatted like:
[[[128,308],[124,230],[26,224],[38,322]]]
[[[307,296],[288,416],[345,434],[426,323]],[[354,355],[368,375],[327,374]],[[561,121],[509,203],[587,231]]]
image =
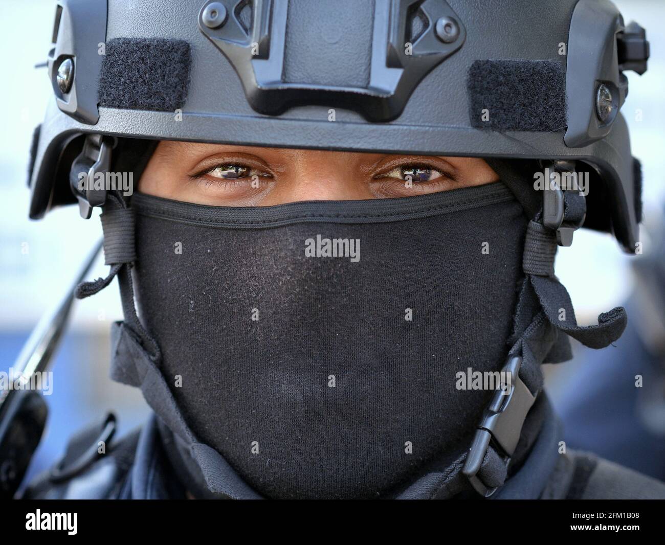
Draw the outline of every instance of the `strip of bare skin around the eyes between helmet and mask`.
[[[219,165],[243,165],[256,173],[226,180],[213,173]],[[433,172],[412,187],[400,179],[402,167]],[[219,169],[217,169],[219,171]],[[158,144],[138,190],[167,199],[218,206],[269,206],[296,201],[360,200],[422,195],[498,179],[480,158],[399,156],[198,144],[164,140]],[[258,187],[257,187],[258,186]]]

